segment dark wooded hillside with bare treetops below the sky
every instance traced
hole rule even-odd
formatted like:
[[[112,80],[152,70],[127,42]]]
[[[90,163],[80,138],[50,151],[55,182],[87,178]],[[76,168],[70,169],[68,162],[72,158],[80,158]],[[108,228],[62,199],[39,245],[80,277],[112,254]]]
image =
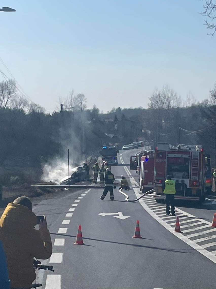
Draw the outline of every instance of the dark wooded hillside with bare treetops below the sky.
[[[73,91],[52,114],[18,94],[13,80],[0,82],[1,171],[20,168],[39,179],[43,165],[60,158],[79,164],[104,144],[148,140],[176,145],[202,144],[215,165],[216,85],[210,99],[198,103],[191,93],[183,103],[171,88],[155,89],[148,108],[86,109],[84,94]],[[62,105],[61,105],[62,104]],[[142,103],[141,103],[142,105]]]

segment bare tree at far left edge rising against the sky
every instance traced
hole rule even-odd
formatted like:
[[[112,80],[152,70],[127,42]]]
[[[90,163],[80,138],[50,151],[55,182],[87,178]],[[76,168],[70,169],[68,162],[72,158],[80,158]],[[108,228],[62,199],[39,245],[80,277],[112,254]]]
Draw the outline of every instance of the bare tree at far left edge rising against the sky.
[[[12,79],[0,82],[0,108],[9,106],[16,95],[16,82]]]

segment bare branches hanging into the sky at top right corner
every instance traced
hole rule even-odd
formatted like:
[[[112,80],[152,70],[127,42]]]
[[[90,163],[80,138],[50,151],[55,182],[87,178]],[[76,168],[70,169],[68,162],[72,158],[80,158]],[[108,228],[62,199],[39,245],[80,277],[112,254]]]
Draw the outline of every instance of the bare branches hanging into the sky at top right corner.
[[[210,23],[206,18],[205,24],[204,24],[204,25],[206,25],[207,29],[210,29],[213,31],[211,33],[207,33],[210,36],[214,36],[215,31],[216,31],[216,24],[214,24],[214,20],[216,18],[215,14],[214,14],[215,10],[216,10],[216,1],[213,1],[213,0],[205,1],[205,4],[203,5],[203,12],[201,12],[201,14],[203,16],[208,17],[209,21],[211,22]]]

